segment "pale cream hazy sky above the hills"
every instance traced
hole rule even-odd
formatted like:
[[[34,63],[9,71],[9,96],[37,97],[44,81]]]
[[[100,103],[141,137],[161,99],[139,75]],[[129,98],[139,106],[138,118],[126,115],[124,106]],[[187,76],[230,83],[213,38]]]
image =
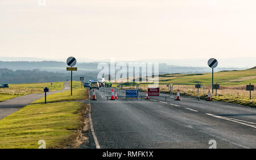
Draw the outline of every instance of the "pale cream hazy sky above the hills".
[[[46,0],[46,6],[0,0],[0,57],[256,57],[255,6],[255,0]]]

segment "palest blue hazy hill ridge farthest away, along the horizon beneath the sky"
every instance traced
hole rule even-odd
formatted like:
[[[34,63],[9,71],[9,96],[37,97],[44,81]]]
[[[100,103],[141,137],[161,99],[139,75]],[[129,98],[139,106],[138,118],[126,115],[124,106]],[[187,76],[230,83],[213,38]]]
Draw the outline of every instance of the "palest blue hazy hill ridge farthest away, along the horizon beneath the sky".
[[[88,72],[99,72],[97,66],[100,62],[84,62],[78,63],[76,66],[79,71],[83,73]],[[108,63],[109,64],[109,63]],[[65,62],[59,61],[0,61],[0,68],[7,68],[11,70],[33,70],[40,69],[45,71],[59,71],[61,73],[66,73],[67,64]],[[110,68],[110,67],[109,67]],[[214,71],[221,70],[241,70],[242,68],[216,68]],[[176,66],[170,65],[166,63],[159,64],[159,73],[167,74],[167,73],[207,73],[210,72],[211,69],[208,66],[205,67],[191,67],[191,66]]]

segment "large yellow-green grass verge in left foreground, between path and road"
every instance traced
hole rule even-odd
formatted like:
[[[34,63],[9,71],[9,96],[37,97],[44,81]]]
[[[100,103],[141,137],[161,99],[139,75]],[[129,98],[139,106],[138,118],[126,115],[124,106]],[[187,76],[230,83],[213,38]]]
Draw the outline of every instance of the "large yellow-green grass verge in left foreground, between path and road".
[[[81,102],[34,104],[0,120],[0,148],[36,149],[39,140],[46,148],[72,146],[83,125]]]

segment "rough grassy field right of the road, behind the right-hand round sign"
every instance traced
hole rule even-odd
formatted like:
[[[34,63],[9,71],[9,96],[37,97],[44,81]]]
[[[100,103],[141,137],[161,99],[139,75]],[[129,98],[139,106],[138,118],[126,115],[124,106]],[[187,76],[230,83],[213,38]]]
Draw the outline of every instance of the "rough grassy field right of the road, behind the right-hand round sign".
[[[211,91],[212,73],[204,74],[163,74],[159,75],[159,83],[200,83],[205,86],[205,94]],[[214,83],[220,85],[220,90],[212,94],[212,99],[223,102],[242,104],[245,106],[256,107],[256,93],[251,91],[251,100],[249,91],[246,91],[246,85],[254,85],[256,89],[256,69],[238,70],[238,71],[220,71],[214,73]],[[176,87],[177,89],[177,87]],[[195,92],[190,92],[184,86],[180,86],[184,94],[196,96]],[[195,89],[193,89],[195,90]],[[212,93],[212,92],[211,92]]]

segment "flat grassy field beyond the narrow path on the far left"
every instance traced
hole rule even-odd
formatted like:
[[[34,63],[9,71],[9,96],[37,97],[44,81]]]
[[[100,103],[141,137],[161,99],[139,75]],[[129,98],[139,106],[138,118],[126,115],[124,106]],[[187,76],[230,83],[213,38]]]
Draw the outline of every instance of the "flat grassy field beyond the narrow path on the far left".
[[[48,87],[49,91],[63,90],[63,84],[64,82],[53,82],[52,86],[51,83],[9,84],[9,88],[0,89],[0,102],[15,98],[16,96],[43,92],[45,87]]]

